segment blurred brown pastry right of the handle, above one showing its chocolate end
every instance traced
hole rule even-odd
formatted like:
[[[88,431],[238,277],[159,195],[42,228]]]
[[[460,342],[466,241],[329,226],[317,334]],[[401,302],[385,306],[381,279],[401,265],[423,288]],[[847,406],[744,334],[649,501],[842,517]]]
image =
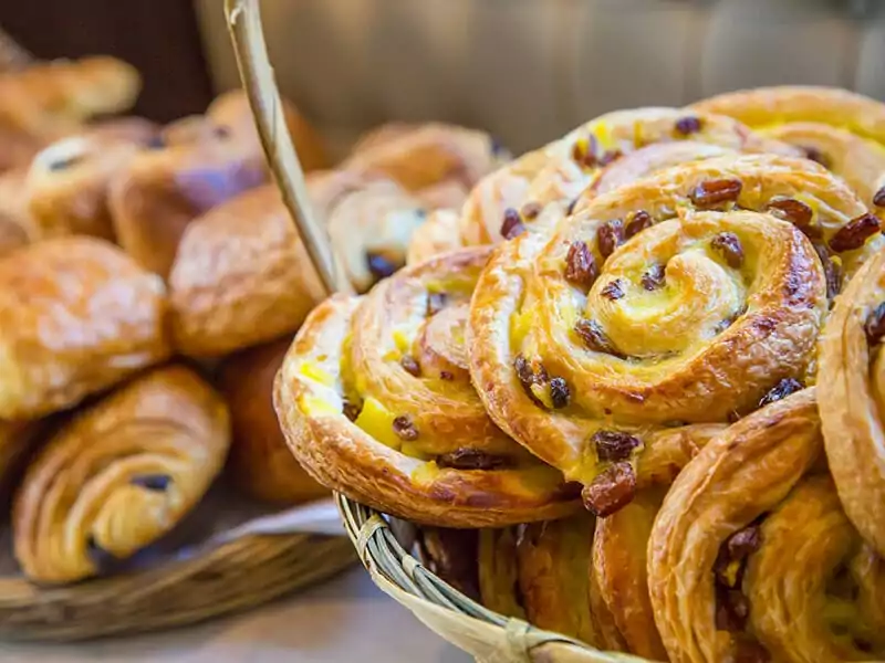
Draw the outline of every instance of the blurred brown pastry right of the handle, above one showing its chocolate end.
[[[470,188],[507,156],[483,131],[437,123],[397,125],[361,143],[341,167],[383,173],[409,191],[447,180]]]

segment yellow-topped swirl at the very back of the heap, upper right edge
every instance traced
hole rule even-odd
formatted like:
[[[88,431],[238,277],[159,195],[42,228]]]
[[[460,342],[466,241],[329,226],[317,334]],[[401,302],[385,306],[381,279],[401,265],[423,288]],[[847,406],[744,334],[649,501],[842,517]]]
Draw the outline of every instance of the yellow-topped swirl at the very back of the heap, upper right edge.
[[[830,87],[762,87],[693,108],[735,117],[803,149],[843,177],[866,204],[885,208],[885,104]]]

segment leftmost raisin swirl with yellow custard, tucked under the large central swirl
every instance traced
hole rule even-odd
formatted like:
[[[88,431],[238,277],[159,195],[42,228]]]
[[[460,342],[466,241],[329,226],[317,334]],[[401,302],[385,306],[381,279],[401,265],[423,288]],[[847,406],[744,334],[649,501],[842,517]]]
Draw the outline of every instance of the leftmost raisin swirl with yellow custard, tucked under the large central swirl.
[[[496,428],[470,383],[464,326],[487,260],[486,249],[448,253],[308,317],[274,403],[290,448],[322,484],[440,527],[575,508],[562,474]]]

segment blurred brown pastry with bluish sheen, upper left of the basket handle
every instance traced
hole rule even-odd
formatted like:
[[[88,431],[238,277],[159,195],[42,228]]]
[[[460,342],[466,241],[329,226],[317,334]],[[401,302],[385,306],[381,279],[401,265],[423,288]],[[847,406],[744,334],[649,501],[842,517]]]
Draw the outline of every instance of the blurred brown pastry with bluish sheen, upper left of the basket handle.
[[[268,181],[254,141],[207,118],[186,118],[140,151],[111,183],[108,202],[121,246],[142,266],[167,276],[188,223]]]

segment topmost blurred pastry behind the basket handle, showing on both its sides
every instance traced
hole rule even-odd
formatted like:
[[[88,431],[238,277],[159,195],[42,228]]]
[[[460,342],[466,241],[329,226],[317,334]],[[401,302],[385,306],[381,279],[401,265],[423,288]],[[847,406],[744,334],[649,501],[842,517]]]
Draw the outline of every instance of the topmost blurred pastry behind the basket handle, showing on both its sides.
[[[319,134],[291,102],[282,99],[282,104],[285,125],[298,150],[301,167],[305,172],[326,168],[329,158]],[[209,104],[206,115],[215,124],[230,130],[235,138],[258,145],[256,120],[242,91],[235,90],[220,95]]]

